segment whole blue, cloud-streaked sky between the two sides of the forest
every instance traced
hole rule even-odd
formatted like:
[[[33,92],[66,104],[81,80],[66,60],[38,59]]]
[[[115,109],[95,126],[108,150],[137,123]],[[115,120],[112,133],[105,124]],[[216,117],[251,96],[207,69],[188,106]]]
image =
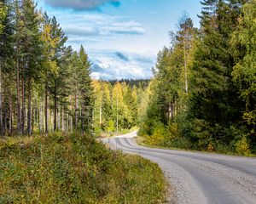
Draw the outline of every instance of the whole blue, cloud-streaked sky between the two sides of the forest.
[[[84,46],[91,77],[102,80],[152,77],[182,14],[199,27],[201,13],[200,0],[38,0],[38,8],[56,17],[67,45]]]

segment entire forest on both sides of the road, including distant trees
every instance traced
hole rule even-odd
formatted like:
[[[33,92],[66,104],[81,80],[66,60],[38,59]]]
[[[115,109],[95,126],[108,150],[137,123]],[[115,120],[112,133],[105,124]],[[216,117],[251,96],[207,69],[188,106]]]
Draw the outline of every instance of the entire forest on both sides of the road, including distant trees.
[[[148,144],[255,153],[255,0],[201,4],[201,27],[183,14],[150,82],[103,82],[55,17],[30,0],[1,1],[1,135],[140,127]]]

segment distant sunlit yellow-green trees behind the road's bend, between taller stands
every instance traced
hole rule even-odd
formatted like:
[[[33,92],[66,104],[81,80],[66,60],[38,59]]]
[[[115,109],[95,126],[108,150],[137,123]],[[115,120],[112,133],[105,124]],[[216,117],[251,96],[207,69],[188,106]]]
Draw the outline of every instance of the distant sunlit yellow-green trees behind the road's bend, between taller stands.
[[[147,95],[144,80],[94,81],[94,129],[100,133],[119,133],[137,127]]]

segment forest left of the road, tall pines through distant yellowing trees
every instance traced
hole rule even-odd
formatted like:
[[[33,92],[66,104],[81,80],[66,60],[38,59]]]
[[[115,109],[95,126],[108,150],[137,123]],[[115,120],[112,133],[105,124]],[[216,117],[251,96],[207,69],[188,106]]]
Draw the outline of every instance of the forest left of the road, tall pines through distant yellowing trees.
[[[137,126],[148,80],[93,81],[83,46],[79,52],[66,46],[55,17],[32,1],[1,4],[2,135],[99,135]]]

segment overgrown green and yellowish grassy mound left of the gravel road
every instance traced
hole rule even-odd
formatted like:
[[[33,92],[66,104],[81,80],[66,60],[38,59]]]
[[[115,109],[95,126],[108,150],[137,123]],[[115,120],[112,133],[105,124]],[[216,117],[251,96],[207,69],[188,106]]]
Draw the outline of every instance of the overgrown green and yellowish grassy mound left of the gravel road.
[[[0,203],[161,203],[160,168],[89,136],[0,140]]]

